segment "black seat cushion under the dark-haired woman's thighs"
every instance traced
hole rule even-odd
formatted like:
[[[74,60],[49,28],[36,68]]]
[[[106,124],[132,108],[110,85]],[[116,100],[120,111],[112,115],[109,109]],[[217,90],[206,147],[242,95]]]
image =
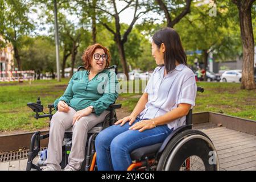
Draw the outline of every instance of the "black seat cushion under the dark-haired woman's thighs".
[[[146,156],[148,158],[154,157],[156,152],[158,152],[159,148],[162,146],[162,143],[156,143],[151,146],[137,148],[131,152],[131,160],[141,160]]]

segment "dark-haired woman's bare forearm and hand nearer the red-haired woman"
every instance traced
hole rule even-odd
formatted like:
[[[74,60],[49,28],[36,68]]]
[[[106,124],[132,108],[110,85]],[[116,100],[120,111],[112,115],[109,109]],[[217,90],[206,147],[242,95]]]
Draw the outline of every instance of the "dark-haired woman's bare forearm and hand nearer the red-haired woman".
[[[141,98],[137,102],[137,105],[134,107],[133,112],[129,116],[119,119],[117,122],[115,122],[115,125],[119,125],[121,123],[120,126],[123,126],[127,121],[130,121],[129,125],[131,125],[135,121],[137,115],[139,115],[144,110],[147,102],[148,93],[143,93]]]

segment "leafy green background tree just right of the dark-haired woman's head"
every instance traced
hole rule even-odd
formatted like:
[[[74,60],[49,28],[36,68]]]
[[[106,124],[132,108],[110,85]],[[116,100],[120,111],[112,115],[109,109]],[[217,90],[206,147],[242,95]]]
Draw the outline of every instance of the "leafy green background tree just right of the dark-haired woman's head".
[[[223,1],[217,6],[216,16],[211,17],[208,12],[208,4],[192,3],[191,14],[185,16],[175,27],[186,51],[201,51],[204,69],[208,67],[210,53],[215,60],[234,58],[240,52],[241,45],[237,26],[234,26],[234,6]],[[195,56],[192,57],[195,59]],[[188,60],[189,58],[188,56]],[[193,60],[189,61],[193,63]]]

